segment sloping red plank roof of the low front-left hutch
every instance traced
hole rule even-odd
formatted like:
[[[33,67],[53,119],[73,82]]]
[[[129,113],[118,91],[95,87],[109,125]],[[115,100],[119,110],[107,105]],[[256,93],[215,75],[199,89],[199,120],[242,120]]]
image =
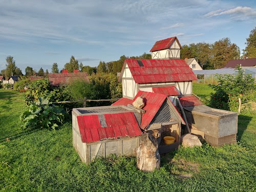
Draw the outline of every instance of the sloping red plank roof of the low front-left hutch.
[[[106,126],[102,127],[99,115],[77,116],[82,142],[91,143],[104,139],[136,137],[142,135],[132,112],[104,114]]]

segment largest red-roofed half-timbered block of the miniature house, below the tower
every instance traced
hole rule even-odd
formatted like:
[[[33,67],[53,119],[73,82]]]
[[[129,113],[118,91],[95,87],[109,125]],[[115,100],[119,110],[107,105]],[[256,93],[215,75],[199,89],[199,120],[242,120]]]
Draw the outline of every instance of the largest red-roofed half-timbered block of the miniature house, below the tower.
[[[193,80],[197,77],[183,59],[125,59],[119,77],[123,97],[129,99],[155,87],[175,86],[180,95],[191,94]]]

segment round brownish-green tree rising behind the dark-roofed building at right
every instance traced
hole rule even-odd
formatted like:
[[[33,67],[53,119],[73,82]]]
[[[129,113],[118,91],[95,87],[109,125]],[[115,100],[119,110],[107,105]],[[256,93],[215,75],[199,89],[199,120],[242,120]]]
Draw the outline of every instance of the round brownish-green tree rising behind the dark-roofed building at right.
[[[222,68],[229,60],[239,59],[240,49],[236,44],[231,44],[229,38],[222,38],[212,45],[212,65],[214,69]]]

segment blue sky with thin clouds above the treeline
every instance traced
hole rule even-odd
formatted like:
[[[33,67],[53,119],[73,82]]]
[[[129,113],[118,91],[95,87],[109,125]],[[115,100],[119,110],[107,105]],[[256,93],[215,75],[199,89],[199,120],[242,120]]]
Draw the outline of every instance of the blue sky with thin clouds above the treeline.
[[[242,52],[256,26],[256,1],[0,0],[0,70],[11,55],[27,66],[62,69],[73,55],[83,65],[137,56],[155,41],[181,45],[229,37]]]

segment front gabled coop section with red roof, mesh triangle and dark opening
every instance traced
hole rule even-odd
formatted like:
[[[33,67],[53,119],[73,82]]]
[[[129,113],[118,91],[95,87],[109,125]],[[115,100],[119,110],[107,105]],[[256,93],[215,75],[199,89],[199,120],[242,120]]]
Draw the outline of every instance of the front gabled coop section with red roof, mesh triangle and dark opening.
[[[112,105],[132,104],[137,97],[142,97],[145,102],[142,108],[145,113],[142,114],[139,122],[140,128],[147,133],[153,134],[157,131],[160,134],[158,148],[160,154],[176,150],[180,145],[181,124],[185,122],[168,96],[139,91],[133,100],[122,98]],[[175,137],[175,143],[166,145],[163,139],[165,136]]]

